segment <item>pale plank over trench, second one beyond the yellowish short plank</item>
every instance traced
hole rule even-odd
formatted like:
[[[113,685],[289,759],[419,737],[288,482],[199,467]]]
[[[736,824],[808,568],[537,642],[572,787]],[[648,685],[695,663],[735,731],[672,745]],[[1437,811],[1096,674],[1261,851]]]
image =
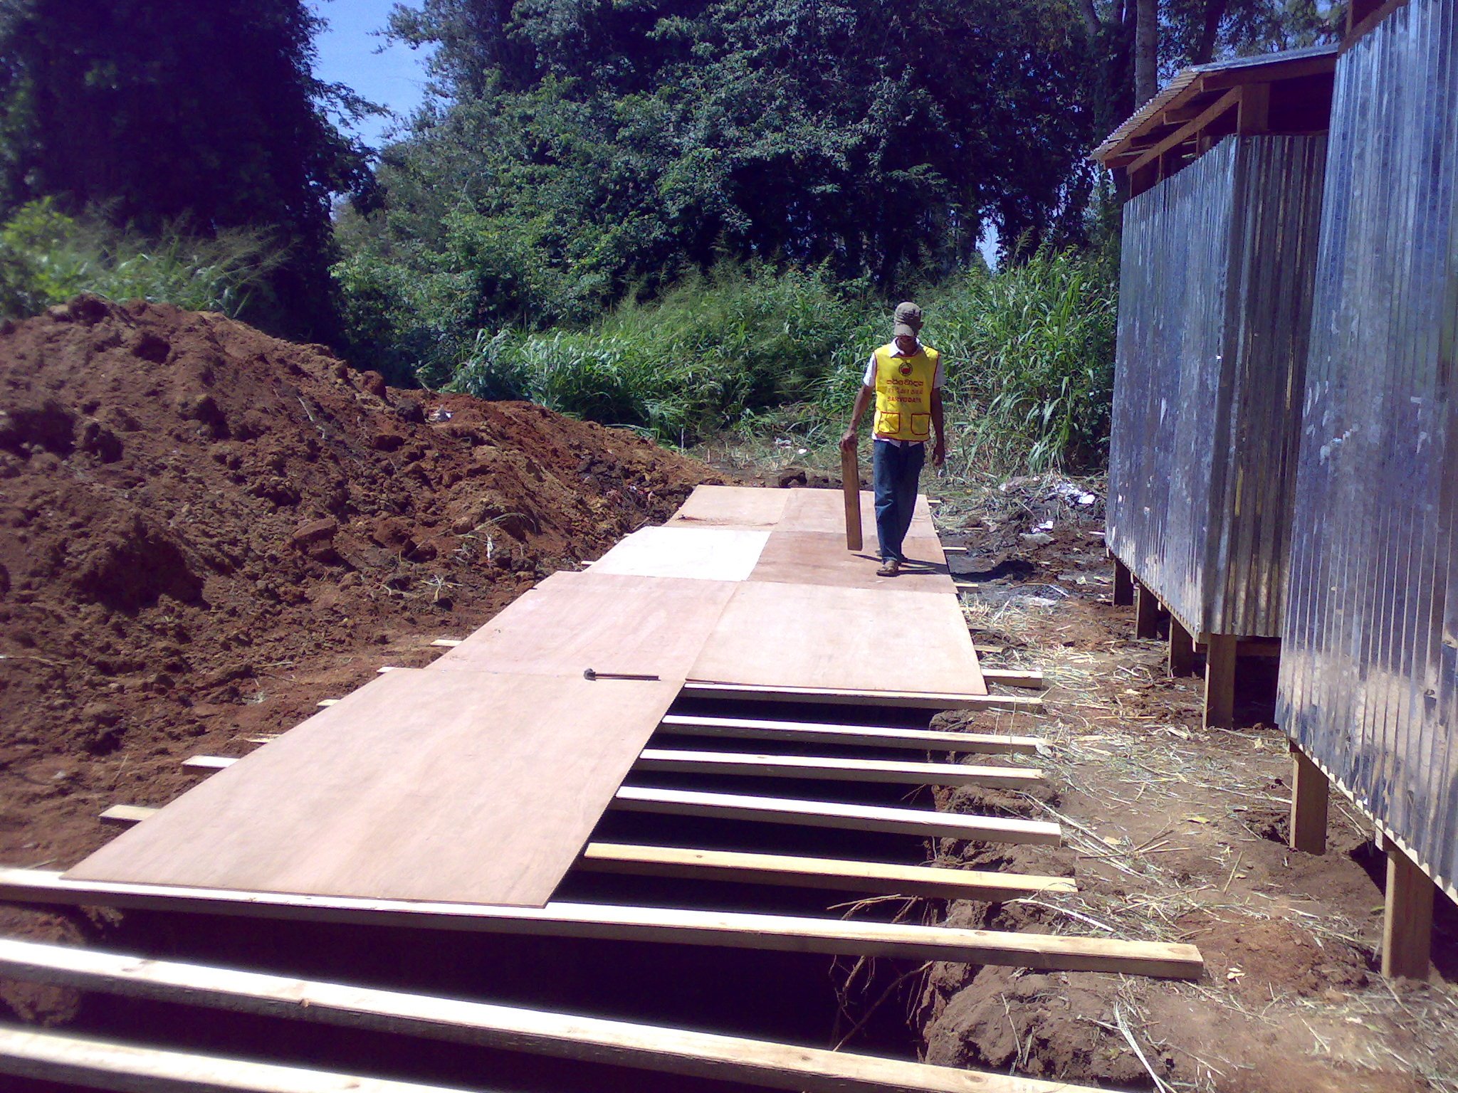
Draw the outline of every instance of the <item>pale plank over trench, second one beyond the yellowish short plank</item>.
[[[904,786],[997,786],[1002,788],[1029,788],[1042,781],[1042,771],[1028,767],[971,767],[958,762],[900,762],[806,755],[745,755],[742,752],[691,752],[666,748],[644,748],[637,762],[633,764],[633,769]]]

